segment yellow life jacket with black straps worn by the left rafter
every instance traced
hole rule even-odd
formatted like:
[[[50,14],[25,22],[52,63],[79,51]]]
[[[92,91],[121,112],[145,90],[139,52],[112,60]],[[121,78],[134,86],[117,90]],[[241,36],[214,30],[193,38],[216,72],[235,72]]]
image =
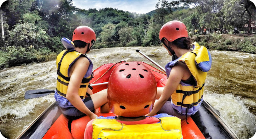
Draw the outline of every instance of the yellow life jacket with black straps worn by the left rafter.
[[[69,77],[69,70],[72,64],[80,58],[80,56],[84,56],[88,58],[85,54],[81,54],[79,52],[76,52],[74,50],[63,50],[60,52],[60,54],[57,56],[56,64],[57,64],[57,88],[56,91],[59,95],[66,97],[67,89],[68,89],[68,83],[70,81]],[[78,95],[81,99],[84,99],[86,96],[86,92],[88,89],[89,81],[92,79],[92,62],[88,58],[90,65],[86,72],[86,75],[84,75],[84,78],[82,79],[80,88],[78,90]]]

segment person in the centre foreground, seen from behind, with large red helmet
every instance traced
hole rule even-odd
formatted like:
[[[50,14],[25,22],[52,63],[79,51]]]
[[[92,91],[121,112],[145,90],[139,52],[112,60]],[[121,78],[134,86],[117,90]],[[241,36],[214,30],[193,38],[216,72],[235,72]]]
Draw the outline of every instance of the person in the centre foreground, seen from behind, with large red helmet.
[[[145,116],[156,100],[156,80],[141,63],[117,66],[108,81],[108,104],[115,117],[88,122],[84,139],[182,139],[181,120],[167,114]]]

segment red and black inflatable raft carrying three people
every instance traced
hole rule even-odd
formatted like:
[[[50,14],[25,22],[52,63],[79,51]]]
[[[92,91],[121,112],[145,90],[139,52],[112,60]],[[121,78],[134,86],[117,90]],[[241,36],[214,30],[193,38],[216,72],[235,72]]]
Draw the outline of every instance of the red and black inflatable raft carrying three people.
[[[123,62],[110,63],[94,70],[94,78],[90,84],[108,82],[110,74],[116,66]],[[152,73],[158,87],[164,87],[167,78],[164,72],[144,63]],[[107,84],[94,86],[92,91],[97,93],[108,87]],[[100,116],[115,116],[114,113],[96,113]],[[90,121],[84,116],[74,121],[64,117],[54,102],[41,115],[39,115],[16,139],[83,139],[86,124]],[[224,123],[220,114],[206,101],[196,114],[182,120],[182,135],[184,139],[238,139],[234,132]]]

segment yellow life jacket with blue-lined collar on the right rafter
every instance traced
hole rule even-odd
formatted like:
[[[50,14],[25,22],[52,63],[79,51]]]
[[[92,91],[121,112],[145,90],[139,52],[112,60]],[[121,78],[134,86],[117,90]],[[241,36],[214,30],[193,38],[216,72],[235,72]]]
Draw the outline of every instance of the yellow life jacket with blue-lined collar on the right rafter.
[[[192,52],[187,52],[180,58],[169,62],[166,65],[166,73],[169,76],[173,66],[178,62],[186,64],[195,84],[189,85],[180,82],[176,91],[172,94],[172,106],[181,114],[193,115],[196,113],[203,101],[204,81],[206,79],[206,72],[210,70],[212,58],[210,52],[196,42],[193,43]]]

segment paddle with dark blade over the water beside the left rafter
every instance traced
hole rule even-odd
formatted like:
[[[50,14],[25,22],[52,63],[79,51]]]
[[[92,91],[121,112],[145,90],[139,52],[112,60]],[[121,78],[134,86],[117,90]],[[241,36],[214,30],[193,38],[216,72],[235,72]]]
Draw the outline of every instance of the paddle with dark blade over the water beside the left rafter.
[[[104,83],[95,83],[95,84],[90,84],[91,86],[97,86],[97,85],[105,85],[108,84],[108,82]],[[46,95],[49,95],[50,93],[55,92],[55,90],[50,90],[50,89],[36,89],[36,90],[28,90],[25,93],[24,98],[25,99],[32,99],[36,97],[44,97]]]

